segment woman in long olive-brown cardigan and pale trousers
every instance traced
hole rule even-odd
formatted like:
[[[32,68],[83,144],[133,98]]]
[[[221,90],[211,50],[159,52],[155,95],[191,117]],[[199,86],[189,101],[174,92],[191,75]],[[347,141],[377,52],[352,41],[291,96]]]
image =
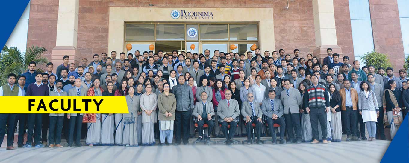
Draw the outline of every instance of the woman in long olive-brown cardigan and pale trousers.
[[[165,145],[165,138],[168,143],[172,144],[173,140],[173,123],[175,121],[176,97],[169,92],[170,85],[163,84],[163,93],[157,97],[157,106],[159,108],[159,132],[160,145]]]

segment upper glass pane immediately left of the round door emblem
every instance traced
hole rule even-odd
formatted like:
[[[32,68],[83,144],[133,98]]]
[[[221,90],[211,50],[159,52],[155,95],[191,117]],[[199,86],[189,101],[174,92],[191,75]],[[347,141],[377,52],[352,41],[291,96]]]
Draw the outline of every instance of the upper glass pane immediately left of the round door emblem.
[[[156,40],[184,40],[184,24],[157,24]]]

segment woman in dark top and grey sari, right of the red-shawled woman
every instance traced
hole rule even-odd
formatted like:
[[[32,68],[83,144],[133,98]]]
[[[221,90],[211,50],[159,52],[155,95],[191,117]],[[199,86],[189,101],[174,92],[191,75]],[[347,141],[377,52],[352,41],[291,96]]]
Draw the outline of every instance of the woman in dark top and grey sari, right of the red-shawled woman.
[[[107,83],[107,91],[102,93],[102,96],[114,96],[115,92],[114,83],[109,81]],[[101,145],[115,145],[114,133],[115,133],[115,116],[112,113],[101,113]]]

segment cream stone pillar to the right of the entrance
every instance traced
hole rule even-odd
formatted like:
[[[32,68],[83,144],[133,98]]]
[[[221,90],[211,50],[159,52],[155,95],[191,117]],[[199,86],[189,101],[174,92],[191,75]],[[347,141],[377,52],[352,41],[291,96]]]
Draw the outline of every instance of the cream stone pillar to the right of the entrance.
[[[332,0],[312,0],[315,29],[315,50],[313,55],[320,62],[327,57],[327,48],[332,48],[333,53],[342,54],[337,43],[335,30],[334,4]],[[342,60],[341,60],[342,62]]]

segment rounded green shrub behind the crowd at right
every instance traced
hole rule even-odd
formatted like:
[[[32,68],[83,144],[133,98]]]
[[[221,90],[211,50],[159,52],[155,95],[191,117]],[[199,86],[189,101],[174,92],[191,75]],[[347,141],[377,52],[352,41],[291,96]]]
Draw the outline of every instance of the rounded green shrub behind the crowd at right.
[[[392,67],[391,62],[389,62],[389,58],[386,54],[378,53],[375,49],[371,52],[365,53],[364,56],[361,57],[364,65],[373,65],[375,68],[387,68]],[[361,63],[362,64],[362,63]]]

